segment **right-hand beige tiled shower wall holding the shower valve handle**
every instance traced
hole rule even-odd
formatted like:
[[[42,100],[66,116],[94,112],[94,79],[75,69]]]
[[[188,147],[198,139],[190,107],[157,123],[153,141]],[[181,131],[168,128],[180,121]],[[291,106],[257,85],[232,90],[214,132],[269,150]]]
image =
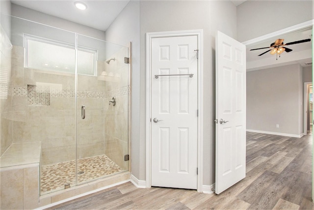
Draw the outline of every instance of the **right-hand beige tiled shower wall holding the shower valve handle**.
[[[124,63],[124,57],[128,52],[122,48],[110,58],[108,65],[105,63],[107,74],[114,75],[115,81],[106,81],[105,91],[105,154],[122,169],[128,169],[128,161],[124,161],[124,155],[129,154],[129,67]],[[118,81],[118,82],[117,82]],[[109,105],[108,101],[116,97],[116,105]]]

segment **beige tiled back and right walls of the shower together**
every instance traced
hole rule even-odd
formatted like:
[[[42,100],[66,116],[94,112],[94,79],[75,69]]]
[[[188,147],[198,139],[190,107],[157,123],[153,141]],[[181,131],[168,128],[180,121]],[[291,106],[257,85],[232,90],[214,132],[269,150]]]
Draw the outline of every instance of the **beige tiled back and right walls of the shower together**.
[[[12,141],[41,141],[43,165],[73,160],[76,158],[77,115],[78,157],[105,153],[128,169],[123,160],[128,153],[128,66],[118,59],[111,61],[110,67],[99,61],[98,75],[114,64],[118,68],[115,74],[120,72],[120,75],[109,78],[111,82],[96,76],[78,75],[76,114],[74,74],[24,68],[24,48],[14,46]],[[112,96],[117,100],[115,107],[108,105]],[[84,120],[81,119],[81,105],[86,107]]]

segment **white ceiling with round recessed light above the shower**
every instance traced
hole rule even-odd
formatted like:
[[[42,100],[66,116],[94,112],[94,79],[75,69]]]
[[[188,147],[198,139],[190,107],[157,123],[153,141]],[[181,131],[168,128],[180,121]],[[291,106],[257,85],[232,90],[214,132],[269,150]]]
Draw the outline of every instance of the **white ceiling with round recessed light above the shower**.
[[[74,2],[87,5],[79,10]],[[107,30],[130,0],[11,0],[12,3],[98,30]]]

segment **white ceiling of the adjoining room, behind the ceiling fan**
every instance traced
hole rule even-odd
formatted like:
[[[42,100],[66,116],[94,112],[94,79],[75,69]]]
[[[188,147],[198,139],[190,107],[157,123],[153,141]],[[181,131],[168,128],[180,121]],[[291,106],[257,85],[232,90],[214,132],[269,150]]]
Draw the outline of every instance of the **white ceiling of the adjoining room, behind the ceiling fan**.
[[[276,60],[276,55],[270,55],[269,52],[262,56],[258,56],[269,49],[250,51],[251,49],[268,47],[271,43],[275,42],[276,39],[285,39],[284,43],[288,43],[309,38],[311,38],[310,42],[286,46],[292,51],[289,53],[282,53],[280,58],[278,57],[278,60]],[[294,63],[300,63],[302,66],[307,66],[305,63],[312,62],[312,27],[283,34],[278,37],[273,37],[256,44],[246,46],[246,60],[248,71],[262,69],[265,68],[265,66],[275,67]]]

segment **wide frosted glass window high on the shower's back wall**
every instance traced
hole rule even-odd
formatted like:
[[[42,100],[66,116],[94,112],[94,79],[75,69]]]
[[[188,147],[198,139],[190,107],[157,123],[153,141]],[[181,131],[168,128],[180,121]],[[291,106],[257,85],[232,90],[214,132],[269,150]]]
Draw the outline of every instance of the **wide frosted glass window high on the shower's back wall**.
[[[75,46],[24,35],[25,67],[75,73]],[[78,74],[97,75],[97,50],[78,47]]]

